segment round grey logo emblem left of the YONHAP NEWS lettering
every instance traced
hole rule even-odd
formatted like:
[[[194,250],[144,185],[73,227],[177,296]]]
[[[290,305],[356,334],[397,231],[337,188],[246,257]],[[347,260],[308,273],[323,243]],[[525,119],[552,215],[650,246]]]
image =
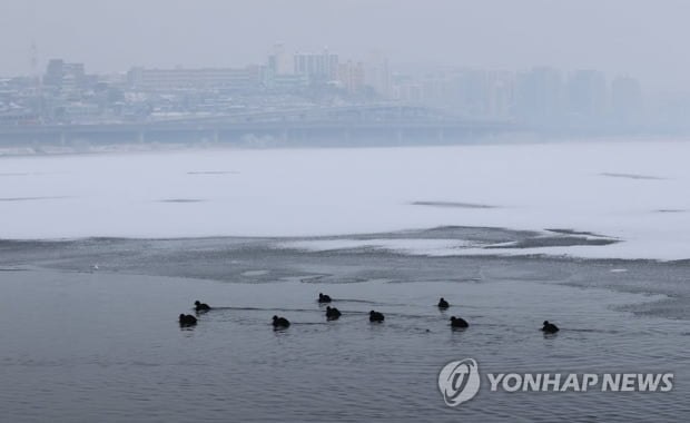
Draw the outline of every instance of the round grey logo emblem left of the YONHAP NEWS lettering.
[[[467,402],[480,391],[480,368],[473,358],[451,362],[438,373],[438,388],[448,406]]]

